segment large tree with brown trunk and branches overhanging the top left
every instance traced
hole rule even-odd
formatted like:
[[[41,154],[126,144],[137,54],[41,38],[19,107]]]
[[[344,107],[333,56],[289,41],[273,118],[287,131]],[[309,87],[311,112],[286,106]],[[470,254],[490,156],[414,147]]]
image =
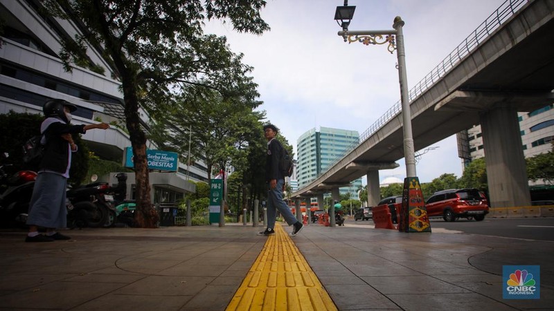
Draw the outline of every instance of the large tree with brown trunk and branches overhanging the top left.
[[[102,51],[112,73],[121,82],[125,122],[136,171],[136,223],[157,227],[158,214],[150,200],[146,135],[139,109],[155,111],[172,102],[188,86],[212,88],[225,96],[251,84],[241,56],[234,55],[224,38],[204,35],[205,19],[226,19],[238,32],[261,34],[269,26],[260,17],[265,0],[45,0],[55,17],[72,19],[84,28],[74,38],[62,38],[60,57],[66,70],[86,62],[87,44]],[[251,91],[244,96],[252,96]]]

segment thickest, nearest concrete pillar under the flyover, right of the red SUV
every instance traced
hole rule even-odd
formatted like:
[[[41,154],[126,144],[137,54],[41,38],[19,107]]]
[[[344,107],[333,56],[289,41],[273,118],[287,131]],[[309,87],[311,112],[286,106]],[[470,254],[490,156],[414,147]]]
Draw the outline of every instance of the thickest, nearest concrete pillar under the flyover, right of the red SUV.
[[[498,106],[479,115],[491,207],[531,205],[517,111]]]

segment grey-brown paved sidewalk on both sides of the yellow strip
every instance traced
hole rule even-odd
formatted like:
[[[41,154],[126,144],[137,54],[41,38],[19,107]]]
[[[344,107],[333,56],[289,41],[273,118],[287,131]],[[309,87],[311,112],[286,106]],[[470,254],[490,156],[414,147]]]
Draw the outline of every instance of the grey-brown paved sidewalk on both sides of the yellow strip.
[[[82,229],[48,243],[0,231],[0,309],[225,310],[265,244],[260,229]],[[339,310],[554,306],[552,242],[352,223],[309,225],[293,241]],[[541,299],[502,299],[502,265],[540,265]]]

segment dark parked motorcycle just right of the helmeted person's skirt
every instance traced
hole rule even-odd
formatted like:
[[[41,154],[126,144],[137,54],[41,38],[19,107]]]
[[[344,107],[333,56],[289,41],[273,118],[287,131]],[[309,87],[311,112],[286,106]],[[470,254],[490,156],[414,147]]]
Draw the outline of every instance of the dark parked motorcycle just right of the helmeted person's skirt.
[[[107,194],[107,182],[93,182],[82,187],[69,189],[68,227],[111,227],[116,221],[116,211],[111,205],[114,197]]]

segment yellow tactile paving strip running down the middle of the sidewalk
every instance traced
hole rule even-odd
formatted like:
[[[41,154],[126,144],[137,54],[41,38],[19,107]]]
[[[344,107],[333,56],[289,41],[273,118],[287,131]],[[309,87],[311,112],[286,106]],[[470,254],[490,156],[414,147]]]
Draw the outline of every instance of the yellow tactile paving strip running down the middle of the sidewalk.
[[[226,310],[337,310],[279,224]]]

